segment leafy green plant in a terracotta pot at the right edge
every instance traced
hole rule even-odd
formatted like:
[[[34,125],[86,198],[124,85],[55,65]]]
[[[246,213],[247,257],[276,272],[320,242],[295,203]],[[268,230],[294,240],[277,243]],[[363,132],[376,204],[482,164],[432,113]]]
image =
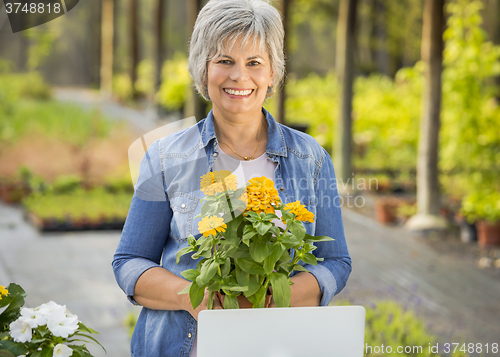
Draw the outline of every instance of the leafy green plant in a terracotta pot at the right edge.
[[[500,246],[500,192],[471,193],[462,201],[461,211],[469,223],[476,222],[480,246]]]

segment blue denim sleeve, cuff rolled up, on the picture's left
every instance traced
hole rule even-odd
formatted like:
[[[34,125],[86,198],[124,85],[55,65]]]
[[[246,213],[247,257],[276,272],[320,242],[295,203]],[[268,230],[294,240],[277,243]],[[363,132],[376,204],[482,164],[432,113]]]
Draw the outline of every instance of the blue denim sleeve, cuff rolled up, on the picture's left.
[[[158,142],[154,142],[141,161],[134,195],[112,263],[118,285],[134,304],[132,297],[139,277],[146,270],[160,266],[171,218]]]

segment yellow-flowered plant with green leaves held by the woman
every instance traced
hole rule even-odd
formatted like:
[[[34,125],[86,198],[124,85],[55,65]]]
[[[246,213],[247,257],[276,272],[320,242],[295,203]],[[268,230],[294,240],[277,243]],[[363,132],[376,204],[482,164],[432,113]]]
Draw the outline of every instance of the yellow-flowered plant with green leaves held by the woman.
[[[316,265],[322,258],[311,253],[314,243],[333,239],[307,234],[302,222],[313,222],[314,215],[299,201],[283,204],[266,177],[237,188],[231,171],[209,172],[202,176],[201,190],[205,197],[197,217],[202,217],[202,236],[188,237],[177,263],[188,253],[202,259],[196,269],[181,273],[192,283],[180,293],[189,293],[196,309],[208,289],[208,309],[215,294],[223,295],[225,309],[233,309],[269,306],[271,288],[277,307],[290,306],[290,274],[307,271],[301,262]],[[281,211],[284,228],[275,223],[276,210]]]

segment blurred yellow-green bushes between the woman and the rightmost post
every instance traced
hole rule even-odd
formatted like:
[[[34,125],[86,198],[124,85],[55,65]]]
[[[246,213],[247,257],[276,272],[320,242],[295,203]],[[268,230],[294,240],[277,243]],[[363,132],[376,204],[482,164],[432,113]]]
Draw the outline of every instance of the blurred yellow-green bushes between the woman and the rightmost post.
[[[407,71],[408,72],[408,71]],[[353,100],[354,165],[406,169],[416,165],[421,84],[402,72],[396,82],[372,75],[358,77]],[[308,133],[330,152],[335,141],[339,87],[335,74],[311,74],[287,87],[287,120],[308,123]]]

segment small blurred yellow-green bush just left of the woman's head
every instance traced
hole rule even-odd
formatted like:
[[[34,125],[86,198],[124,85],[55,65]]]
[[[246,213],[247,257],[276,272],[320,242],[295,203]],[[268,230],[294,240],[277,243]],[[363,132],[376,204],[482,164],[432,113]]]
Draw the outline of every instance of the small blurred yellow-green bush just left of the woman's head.
[[[165,62],[162,69],[162,84],[157,94],[157,101],[163,107],[170,110],[183,108],[191,85],[187,68],[187,58],[180,52]]]

